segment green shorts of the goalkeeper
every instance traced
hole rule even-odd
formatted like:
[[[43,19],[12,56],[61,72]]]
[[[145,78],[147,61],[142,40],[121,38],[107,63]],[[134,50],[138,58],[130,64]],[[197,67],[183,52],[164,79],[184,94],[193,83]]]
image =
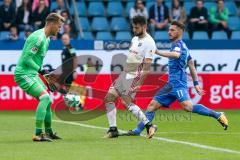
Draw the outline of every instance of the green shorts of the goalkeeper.
[[[35,98],[46,91],[46,86],[38,75],[14,75],[14,80],[21,89]]]

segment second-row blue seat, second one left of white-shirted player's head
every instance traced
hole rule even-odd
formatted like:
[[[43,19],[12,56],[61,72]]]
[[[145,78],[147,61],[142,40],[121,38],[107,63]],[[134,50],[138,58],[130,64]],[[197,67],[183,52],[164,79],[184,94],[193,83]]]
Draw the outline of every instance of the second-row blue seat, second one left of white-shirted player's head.
[[[109,24],[105,17],[94,17],[92,21],[93,31],[108,31]]]

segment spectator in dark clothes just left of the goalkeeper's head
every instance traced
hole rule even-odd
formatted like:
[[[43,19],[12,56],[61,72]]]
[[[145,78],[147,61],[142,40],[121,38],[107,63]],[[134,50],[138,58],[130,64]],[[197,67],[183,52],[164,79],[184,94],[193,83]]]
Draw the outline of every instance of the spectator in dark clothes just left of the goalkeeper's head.
[[[44,27],[45,19],[49,14],[49,9],[45,5],[44,0],[39,1],[39,6],[32,14],[32,22],[34,30]]]

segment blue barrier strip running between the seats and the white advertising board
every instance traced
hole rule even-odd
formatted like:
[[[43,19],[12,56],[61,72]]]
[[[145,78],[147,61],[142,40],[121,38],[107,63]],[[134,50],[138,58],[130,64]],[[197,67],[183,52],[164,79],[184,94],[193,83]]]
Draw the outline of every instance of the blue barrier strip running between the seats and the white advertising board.
[[[186,40],[189,49],[240,49],[240,40]],[[129,41],[92,41],[92,40],[72,40],[71,44],[78,50],[94,50],[94,49],[128,49]],[[21,50],[24,40],[0,41],[0,50]],[[169,41],[156,41],[159,49],[169,49],[171,43]],[[61,50],[62,43],[60,40],[53,40],[50,43],[50,50]]]

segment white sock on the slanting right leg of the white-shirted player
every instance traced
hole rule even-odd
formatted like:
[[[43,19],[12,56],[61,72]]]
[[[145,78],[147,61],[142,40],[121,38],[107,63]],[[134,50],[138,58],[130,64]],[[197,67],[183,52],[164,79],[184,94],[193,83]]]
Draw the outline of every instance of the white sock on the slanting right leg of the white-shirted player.
[[[133,115],[138,119],[138,121],[143,122],[144,125],[149,122],[143,111],[136,104],[130,104],[128,106],[128,110],[133,113]]]

